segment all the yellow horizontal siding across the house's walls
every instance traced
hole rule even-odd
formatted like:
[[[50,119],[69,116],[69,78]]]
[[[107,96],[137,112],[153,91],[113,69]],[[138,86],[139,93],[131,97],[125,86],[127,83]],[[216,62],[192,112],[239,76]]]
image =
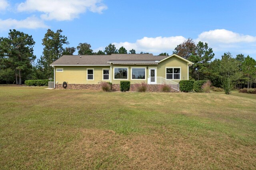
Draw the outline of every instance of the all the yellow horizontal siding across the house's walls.
[[[146,68],[148,66],[148,69]],[[119,79],[114,80],[114,67],[116,68],[128,68],[128,80],[126,79]],[[181,75],[180,80],[188,80],[188,63],[177,57],[173,56],[169,59],[162,61],[157,65],[112,65],[112,72],[110,72],[109,77],[112,78],[113,84],[119,84],[120,81],[130,81],[131,84],[140,83],[140,82],[147,82],[148,79],[148,71],[149,68],[157,68],[156,76],[166,78],[166,67],[180,67],[181,68]],[[64,81],[68,82],[69,84],[98,84],[99,82],[106,81],[109,82],[110,80],[102,80],[103,73],[102,69],[110,69],[110,66],[56,66],[56,68],[63,68],[63,72],[55,72],[55,79],[58,84],[62,84]],[[93,68],[94,69],[94,80],[87,80],[87,69]],[[138,79],[138,80],[131,80],[131,68],[146,68],[146,79]],[[175,82],[180,82],[180,80],[173,80]]]

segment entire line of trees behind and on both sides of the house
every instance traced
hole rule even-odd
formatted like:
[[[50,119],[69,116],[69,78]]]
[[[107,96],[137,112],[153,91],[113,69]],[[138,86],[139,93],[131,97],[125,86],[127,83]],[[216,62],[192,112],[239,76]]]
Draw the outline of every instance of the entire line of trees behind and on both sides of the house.
[[[79,43],[77,47],[69,47],[68,39],[62,35],[61,29],[56,32],[48,29],[42,39],[44,46],[42,55],[35,62],[34,44],[31,35],[15,29],[10,30],[8,37],[0,37],[1,84],[22,84],[28,79],[53,78],[53,67],[50,64],[62,55],[73,55],[76,50],[78,55],[136,54],[134,49],[128,52],[124,47],[117,49],[111,43],[104,51],[98,52],[93,52],[89,43]],[[250,56],[238,54],[233,58],[231,53],[227,52],[221,56],[221,59],[212,60],[214,58],[212,48],[201,41],[195,44],[190,38],[177,45],[173,53],[194,63],[189,69],[191,80],[210,80],[216,87],[222,87],[224,81],[228,81],[228,85],[235,88],[252,87],[253,83],[255,87],[256,61]],[[140,54],[148,53],[140,52]]]

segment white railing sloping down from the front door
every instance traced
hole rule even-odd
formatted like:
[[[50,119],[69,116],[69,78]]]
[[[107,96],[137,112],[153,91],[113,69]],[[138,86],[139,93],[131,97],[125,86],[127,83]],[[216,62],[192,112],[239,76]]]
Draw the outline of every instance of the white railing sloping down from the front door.
[[[148,77],[148,84],[166,84],[174,90],[180,91],[180,84],[163,77]]]

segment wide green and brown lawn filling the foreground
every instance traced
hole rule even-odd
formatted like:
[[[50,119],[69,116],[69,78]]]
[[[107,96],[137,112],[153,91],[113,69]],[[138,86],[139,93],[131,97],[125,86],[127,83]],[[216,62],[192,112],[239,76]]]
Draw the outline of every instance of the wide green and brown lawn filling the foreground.
[[[0,169],[255,169],[248,96],[0,86]]]

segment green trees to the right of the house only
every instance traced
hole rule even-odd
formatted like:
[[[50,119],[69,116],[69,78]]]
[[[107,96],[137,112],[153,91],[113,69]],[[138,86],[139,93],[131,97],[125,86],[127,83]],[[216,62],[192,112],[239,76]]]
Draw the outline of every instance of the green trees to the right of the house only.
[[[233,57],[230,52],[224,53],[221,59],[214,59],[212,48],[207,43],[187,39],[179,44],[174,54],[188,59],[190,80],[210,80],[213,86],[230,88],[256,88],[256,61],[249,55],[238,54]]]

